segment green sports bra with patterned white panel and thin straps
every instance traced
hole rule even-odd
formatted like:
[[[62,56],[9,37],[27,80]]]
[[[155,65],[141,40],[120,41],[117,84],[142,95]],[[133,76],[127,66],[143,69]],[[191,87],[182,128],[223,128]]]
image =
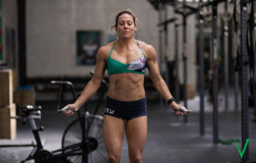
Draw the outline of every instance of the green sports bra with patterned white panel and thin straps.
[[[115,46],[116,42],[113,44],[113,48]],[[141,52],[143,53],[143,49],[140,47],[139,43],[137,42],[137,45],[141,49]],[[145,74],[146,69],[146,58],[144,56],[140,57],[139,59],[136,59],[132,61],[129,64],[121,63],[115,59],[111,58],[111,53],[113,52],[113,48],[111,49],[108,59],[107,59],[107,69],[108,69],[108,75],[115,75],[115,74],[121,74],[121,73],[136,73],[136,74]]]

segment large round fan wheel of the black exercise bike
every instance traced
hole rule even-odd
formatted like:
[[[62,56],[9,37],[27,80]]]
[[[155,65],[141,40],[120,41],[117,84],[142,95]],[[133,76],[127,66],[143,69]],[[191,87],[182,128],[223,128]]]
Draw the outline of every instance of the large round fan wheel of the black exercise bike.
[[[79,120],[70,123],[62,137],[62,149],[68,145],[82,142],[82,131]],[[103,141],[103,118],[100,115],[89,116],[89,141],[90,152],[88,163],[108,162],[108,154]],[[73,163],[81,163],[82,155],[67,156]]]

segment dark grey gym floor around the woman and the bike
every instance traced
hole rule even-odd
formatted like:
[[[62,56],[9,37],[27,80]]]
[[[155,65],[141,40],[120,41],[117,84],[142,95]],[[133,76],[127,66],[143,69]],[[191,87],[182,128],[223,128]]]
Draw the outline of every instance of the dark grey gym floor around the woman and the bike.
[[[89,107],[95,103],[90,102]],[[41,137],[45,149],[59,149],[61,136],[65,126],[75,118],[67,117],[55,110],[55,104],[42,104],[42,120],[44,126]],[[102,110],[100,110],[102,112]],[[212,113],[206,113],[205,135],[200,136],[199,114],[188,116],[188,123],[183,122],[182,116],[177,116],[159,101],[148,100],[148,140],[143,151],[145,163],[228,163],[240,162],[241,158],[236,143],[212,143]],[[241,149],[241,115],[234,112],[220,112],[218,116],[219,139],[239,139]],[[22,126],[18,123],[15,140],[0,140],[0,143],[31,143],[32,133],[29,124]],[[256,162],[256,123],[253,122],[253,110],[249,110],[249,158]],[[32,148],[0,149],[1,163],[16,163],[26,158]],[[128,163],[127,143],[122,148],[122,163]]]

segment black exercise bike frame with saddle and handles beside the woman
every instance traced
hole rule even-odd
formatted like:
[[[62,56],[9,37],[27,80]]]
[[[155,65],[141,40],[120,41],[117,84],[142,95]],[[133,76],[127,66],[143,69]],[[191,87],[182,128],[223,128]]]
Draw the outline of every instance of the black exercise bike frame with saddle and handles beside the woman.
[[[77,98],[76,93],[74,91],[73,84],[71,82],[56,82],[52,81],[51,84],[55,85],[67,85],[71,87],[72,94],[73,94],[73,101]],[[105,83],[106,85],[106,83]],[[108,86],[107,86],[108,87]],[[105,89],[104,89],[105,90]],[[101,102],[102,98],[104,96],[104,93],[102,93],[101,96]],[[100,108],[100,103],[96,105],[96,111]],[[50,155],[50,160],[53,159],[62,159],[66,160],[67,156],[73,156],[73,155],[82,155],[82,162],[87,163],[89,159],[90,154],[90,138],[89,138],[89,127],[90,127],[90,121],[89,121],[89,113],[87,110],[87,104],[84,104],[84,113],[81,113],[81,110],[77,111],[78,119],[79,119],[79,126],[81,126],[81,134],[82,134],[82,141],[80,143],[73,143],[70,145],[67,145],[66,147],[62,147],[61,149],[55,149],[53,151],[45,150],[39,135],[39,131],[43,131],[44,127],[40,126],[38,127],[36,124],[35,119],[41,119],[41,115],[33,115],[33,114],[27,114],[25,116],[14,116],[11,118],[15,119],[22,119],[23,121],[28,120],[30,122],[30,126],[32,128],[32,133],[35,138],[36,143],[31,144],[4,144],[0,145],[0,148],[11,148],[11,147],[33,147],[31,153],[27,156],[25,160],[22,160],[21,162],[26,162],[27,160],[35,160],[38,157],[38,154],[40,152],[45,152],[43,154]],[[39,112],[40,113],[40,112]],[[93,149],[92,149],[93,150]],[[68,160],[66,160],[68,161]]]

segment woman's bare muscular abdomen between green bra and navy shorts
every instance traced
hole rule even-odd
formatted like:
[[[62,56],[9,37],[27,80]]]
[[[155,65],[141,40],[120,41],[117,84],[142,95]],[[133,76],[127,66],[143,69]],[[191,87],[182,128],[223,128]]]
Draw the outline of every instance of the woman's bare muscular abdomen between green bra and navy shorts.
[[[122,73],[109,76],[108,97],[119,101],[145,98],[144,75]]]

